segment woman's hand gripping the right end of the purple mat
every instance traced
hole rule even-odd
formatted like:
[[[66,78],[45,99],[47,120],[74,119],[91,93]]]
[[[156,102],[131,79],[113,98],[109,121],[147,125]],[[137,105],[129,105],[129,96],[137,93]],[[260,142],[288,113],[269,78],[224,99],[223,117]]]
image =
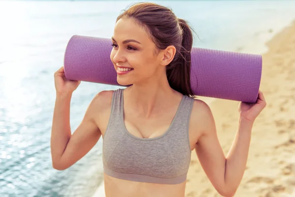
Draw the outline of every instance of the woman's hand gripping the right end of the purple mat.
[[[245,118],[250,122],[254,122],[260,112],[266,107],[266,99],[263,93],[259,91],[258,98],[255,103],[240,102],[238,112],[240,117]]]

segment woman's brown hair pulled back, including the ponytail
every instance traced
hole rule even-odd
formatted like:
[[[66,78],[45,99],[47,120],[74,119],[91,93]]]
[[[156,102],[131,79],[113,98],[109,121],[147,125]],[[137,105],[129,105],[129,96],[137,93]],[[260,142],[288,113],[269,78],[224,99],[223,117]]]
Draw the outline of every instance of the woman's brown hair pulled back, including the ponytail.
[[[187,22],[178,19],[172,9],[149,2],[131,5],[118,16],[116,22],[121,18],[135,19],[140,27],[147,30],[156,45],[155,54],[169,45],[175,46],[175,57],[166,66],[169,85],[183,95],[194,97],[190,86],[193,35]]]

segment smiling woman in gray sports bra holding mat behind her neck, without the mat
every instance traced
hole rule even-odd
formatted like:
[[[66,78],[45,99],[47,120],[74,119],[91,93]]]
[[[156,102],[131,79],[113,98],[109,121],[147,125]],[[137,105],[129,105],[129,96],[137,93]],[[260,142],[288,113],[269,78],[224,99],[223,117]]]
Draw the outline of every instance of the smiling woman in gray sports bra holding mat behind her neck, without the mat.
[[[195,149],[218,193],[234,196],[254,120],[266,106],[263,94],[254,104],[239,104],[236,138],[225,157],[210,108],[192,96],[188,24],[167,7],[137,3],[118,16],[112,41],[118,83],[132,85],[98,93],[73,134],[70,100],[80,81],[67,80],[63,67],[55,73],[53,167],[76,163],[102,135],[106,197],[184,197]]]

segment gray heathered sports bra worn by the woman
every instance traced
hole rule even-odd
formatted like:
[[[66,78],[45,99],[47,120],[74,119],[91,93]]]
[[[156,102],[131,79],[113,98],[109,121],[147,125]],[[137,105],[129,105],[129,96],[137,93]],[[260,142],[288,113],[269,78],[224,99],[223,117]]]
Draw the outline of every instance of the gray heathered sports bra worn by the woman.
[[[194,99],[183,96],[169,129],[161,136],[140,138],[126,130],[123,89],[114,91],[103,138],[103,169],[119,179],[178,184],[186,180],[191,160],[188,125]]]

